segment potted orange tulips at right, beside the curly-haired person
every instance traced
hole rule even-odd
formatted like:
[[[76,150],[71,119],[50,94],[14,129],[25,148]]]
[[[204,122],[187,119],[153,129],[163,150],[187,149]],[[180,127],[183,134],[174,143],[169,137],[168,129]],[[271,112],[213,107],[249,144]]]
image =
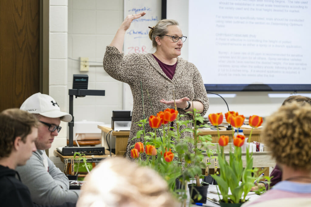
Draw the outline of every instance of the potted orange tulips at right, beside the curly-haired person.
[[[231,123],[233,127],[239,128],[242,126],[245,117],[243,115],[238,115],[238,113],[228,112],[228,116],[226,114],[227,122]],[[222,113],[213,113],[209,115],[210,122],[214,126],[218,126],[221,124],[223,120]],[[253,128],[259,127],[262,123],[262,117],[258,117],[254,119],[254,117],[250,118],[250,120],[257,120],[250,125]],[[255,123],[257,122],[257,123]],[[253,130],[253,129],[252,129]],[[232,133],[233,134],[233,133]],[[229,162],[225,159],[224,146],[229,143],[229,136],[219,136],[219,141],[217,149],[218,149],[218,160],[220,166],[220,175],[212,175],[212,177],[217,181],[219,189],[219,195],[222,195],[222,199],[220,200],[220,206],[226,206],[228,204],[234,204],[234,206],[239,206],[244,203],[245,197],[248,192],[251,190],[252,186],[254,186],[253,182],[255,177],[252,176],[253,172],[253,152],[249,153],[249,147],[246,149],[245,159],[246,166],[243,168],[242,165],[242,150],[241,146],[244,144],[245,136],[237,135],[233,136],[233,144],[234,151],[232,148],[229,148]],[[248,141],[250,142],[251,134],[249,136]],[[242,182],[240,182],[242,181]],[[229,191],[231,193],[229,193]],[[219,197],[220,198],[220,197]]]

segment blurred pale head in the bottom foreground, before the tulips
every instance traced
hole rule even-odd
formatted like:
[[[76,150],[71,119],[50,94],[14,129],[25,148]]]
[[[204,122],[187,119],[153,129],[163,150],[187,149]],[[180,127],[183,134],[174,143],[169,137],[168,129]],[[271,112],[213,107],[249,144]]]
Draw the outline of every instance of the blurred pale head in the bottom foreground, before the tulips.
[[[178,206],[156,171],[118,157],[96,166],[81,190],[77,207]]]

